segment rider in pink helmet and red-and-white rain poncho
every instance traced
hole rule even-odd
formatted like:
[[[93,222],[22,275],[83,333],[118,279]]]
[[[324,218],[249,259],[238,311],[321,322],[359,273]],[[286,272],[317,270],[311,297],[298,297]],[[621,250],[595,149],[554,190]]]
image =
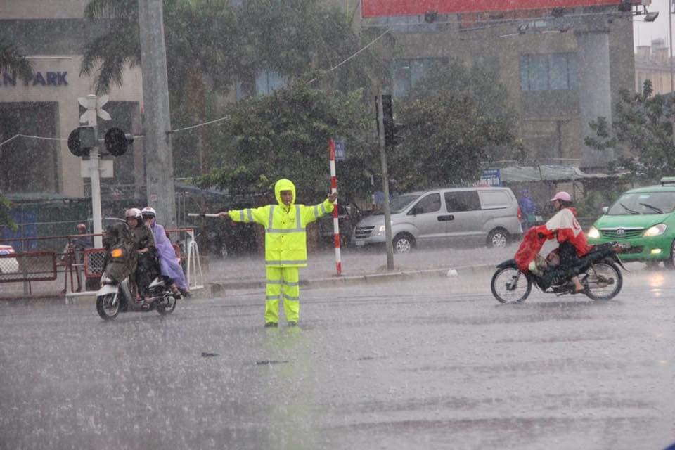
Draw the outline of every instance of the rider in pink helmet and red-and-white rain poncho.
[[[560,245],[556,250],[560,258],[560,267],[573,272],[574,264],[579,257],[591,250],[591,245],[586,242],[584,231],[577,221],[577,210],[572,207],[572,196],[561,191],[551,198],[551,202],[557,212],[546,224],[536,227],[536,231],[540,238],[558,239]],[[585,287],[577,274],[573,274],[570,281],[574,283],[574,293],[584,291]]]

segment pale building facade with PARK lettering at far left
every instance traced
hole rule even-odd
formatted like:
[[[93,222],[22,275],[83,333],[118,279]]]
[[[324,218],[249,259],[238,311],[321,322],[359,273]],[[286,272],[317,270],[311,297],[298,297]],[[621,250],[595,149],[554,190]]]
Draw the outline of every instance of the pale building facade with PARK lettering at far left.
[[[108,27],[83,19],[87,3],[0,0],[0,38],[26,55],[34,68],[30,79],[0,73],[0,142],[16,134],[35,136],[0,147],[0,188],[6,193],[86,195],[89,180],[82,178],[81,158],[70,153],[67,139],[84,111],[77,98],[94,93],[94,77],[80,75],[82,48]],[[103,108],[113,120],[98,119],[99,137],[110,127],[140,134],[140,68],[124,70],[122,79]],[[115,177],[101,180],[103,193],[114,196],[116,186],[138,192],[144,183],[142,152],[129,151],[114,165]]]

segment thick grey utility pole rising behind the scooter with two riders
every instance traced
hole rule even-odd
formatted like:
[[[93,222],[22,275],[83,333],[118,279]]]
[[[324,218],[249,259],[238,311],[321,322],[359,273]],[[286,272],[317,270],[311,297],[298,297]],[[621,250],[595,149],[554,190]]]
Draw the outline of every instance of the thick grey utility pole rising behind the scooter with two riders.
[[[171,117],[162,9],[162,0],[139,1],[146,190],[148,205],[157,210],[158,220],[167,228],[175,228],[174,162],[171,135],[167,133],[171,130]]]

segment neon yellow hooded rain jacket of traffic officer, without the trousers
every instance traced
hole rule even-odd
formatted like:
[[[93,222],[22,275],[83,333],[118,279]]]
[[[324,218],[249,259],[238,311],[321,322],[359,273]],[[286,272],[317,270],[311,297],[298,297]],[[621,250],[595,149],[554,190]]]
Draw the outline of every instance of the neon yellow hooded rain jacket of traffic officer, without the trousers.
[[[290,206],[281,202],[281,191],[291,191]],[[238,222],[255,222],[265,227],[265,265],[271,267],[307,266],[307,224],[333,212],[328,199],[313,206],[295,205],[295,185],[281,179],[274,186],[278,205],[246,208],[229,212]]]

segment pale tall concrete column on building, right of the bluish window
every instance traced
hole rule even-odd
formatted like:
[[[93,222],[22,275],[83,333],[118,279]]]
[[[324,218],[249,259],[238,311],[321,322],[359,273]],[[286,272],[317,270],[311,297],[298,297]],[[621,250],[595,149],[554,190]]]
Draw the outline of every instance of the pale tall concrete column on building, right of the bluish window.
[[[596,134],[589,122],[605,117],[612,123],[612,93],[610,89],[609,32],[582,30],[577,37],[579,60],[578,89],[579,117],[581,119],[581,163],[579,167],[605,167],[615,159],[614,150],[595,150],[584,144],[586,136]]]

